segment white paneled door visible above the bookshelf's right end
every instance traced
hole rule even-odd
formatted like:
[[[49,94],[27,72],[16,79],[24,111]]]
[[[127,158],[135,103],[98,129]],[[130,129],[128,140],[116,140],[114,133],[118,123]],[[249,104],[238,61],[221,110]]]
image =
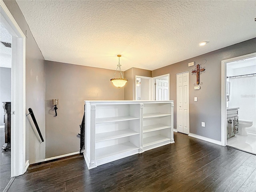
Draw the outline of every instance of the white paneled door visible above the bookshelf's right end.
[[[168,80],[156,79],[156,100],[168,100]]]

